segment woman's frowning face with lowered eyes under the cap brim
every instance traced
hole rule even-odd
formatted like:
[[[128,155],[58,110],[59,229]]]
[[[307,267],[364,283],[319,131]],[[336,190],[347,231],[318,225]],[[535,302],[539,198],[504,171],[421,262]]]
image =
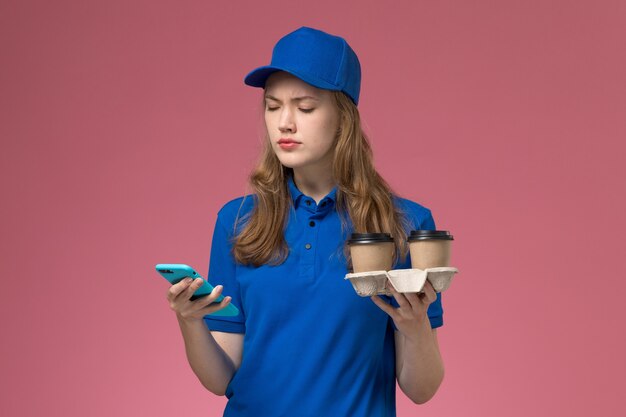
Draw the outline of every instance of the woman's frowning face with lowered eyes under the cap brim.
[[[272,149],[288,168],[329,168],[339,114],[328,90],[278,71],[265,84],[265,126]]]

